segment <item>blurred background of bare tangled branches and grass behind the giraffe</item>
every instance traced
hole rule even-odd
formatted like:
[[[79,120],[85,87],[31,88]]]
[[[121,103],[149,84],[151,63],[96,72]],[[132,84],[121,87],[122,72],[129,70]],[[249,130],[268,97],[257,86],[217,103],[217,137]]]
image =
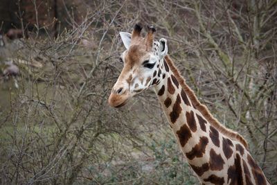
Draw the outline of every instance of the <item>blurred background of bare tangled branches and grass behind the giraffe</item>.
[[[199,183],[154,91],[107,104],[137,22],[277,184],[274,0],[1,0],[0,184]]]

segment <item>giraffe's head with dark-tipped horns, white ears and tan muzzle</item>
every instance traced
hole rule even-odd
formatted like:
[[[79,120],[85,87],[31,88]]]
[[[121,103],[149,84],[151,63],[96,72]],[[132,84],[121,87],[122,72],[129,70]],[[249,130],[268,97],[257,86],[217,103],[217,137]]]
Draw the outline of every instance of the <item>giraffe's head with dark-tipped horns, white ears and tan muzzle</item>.
[[[142,26],[136,24],[131,33],[120,32],[126,50],[120,59],[123,70],[111,89],[109,105],[121,107],[132,96],[159,83],[160,61],[168,53],[166,39],[154,41],[155,28],[148,26],[148,33],[141,37]]]

